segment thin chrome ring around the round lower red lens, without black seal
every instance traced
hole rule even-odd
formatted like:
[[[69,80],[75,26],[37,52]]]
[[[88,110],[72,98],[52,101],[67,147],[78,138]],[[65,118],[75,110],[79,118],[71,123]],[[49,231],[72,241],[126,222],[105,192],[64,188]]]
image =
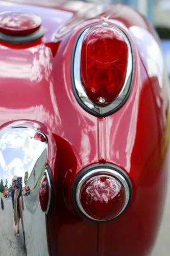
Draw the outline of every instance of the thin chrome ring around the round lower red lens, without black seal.
[[[94,218],[92,218],[91,216],[89,216],[86,211],[83,209],[83,206],[82,206],[82,203],[81,203],[81,188],[83,186],[83,184],[88,180],[90,179],[91,177],[93,177],[94,175],[99,175],[100,174],[100,177],[101,176],[105,176],[105,177],[115,177],[117,178],[124,186],[124,189],[125,189],[125,205],[122,209],[122,211],[120,211],[120,213],[115,216],[113,219],[115,219],[116,217],[118,217],[120,214],[122,214],[122,212],[125,210],[125,208],[127,207],[128,203],[129,203],[129,199],[130,199],[130,189],[129,189],[129,185],[126,181],[126,179],[123,177],[123,175],[121,175],[120,173],[116,172],[116,170],[113,170],[113,169],[108,169],[108,168],[98,168],[98,169],[94,169],[94,170],[91,170],[90,172],[88,172],[87,174],[85,174],[81,180],[79,181],[78,185],[77,185],[77,188],[76,188],[76,203],[77,203],[77,206],[79,207],[79,209],[81,210],[81,212],[86,216],[88,217],[89,219],[91,220],[94,220],[94,221],[99,221],[99,222],[105,222],[104,220],[96,220]]]

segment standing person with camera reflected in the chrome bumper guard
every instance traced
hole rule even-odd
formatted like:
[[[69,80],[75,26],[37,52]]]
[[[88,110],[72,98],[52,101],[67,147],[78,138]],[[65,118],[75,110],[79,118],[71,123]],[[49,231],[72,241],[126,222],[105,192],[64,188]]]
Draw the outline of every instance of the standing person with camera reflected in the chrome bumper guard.
[[[14,210],[14,234],[15,236],[19,237],[19,221],[21,218],[22,230],[24,232],[24,222],[23,222],[23,211],[24,211],[24,203],[23,203],[23,194],[22,194],[22,179],[21,187],[17,188],[17,176],[14,176],[12,179],[12,191],[11,191],[11,198],[12,198],[12,206]]]

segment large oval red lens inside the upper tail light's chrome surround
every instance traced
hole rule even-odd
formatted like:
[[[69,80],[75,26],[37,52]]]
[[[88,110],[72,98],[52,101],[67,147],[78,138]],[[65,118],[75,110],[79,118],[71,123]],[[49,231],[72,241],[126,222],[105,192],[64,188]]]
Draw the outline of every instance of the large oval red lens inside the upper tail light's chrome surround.
[[[81,52],[81,80],[88,98],[99,106],[122,91],[128,67],[128,42],[113,26],[94,26],[85,35]]]

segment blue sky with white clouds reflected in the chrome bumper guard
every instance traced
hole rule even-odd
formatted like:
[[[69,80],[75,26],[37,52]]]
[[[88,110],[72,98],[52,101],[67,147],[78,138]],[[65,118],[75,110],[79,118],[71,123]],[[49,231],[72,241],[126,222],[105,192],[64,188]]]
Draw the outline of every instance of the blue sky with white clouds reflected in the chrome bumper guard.
[[[12,132],[11,132],[12,131]],[[26,170],[31,171],[41,153],[44,143],[31,139],[35,131],[30,129],[7,129],[1,132],[0,138],[0,180],[11,184],[13,176],[22,176]]]

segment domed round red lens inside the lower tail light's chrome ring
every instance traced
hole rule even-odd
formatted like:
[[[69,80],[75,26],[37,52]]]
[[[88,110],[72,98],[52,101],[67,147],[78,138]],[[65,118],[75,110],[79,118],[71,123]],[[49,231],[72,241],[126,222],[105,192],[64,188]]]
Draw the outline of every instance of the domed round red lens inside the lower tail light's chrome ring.
[[[81,189],[81,203],[93,219],[107,221],[120,214],[125,205],[125,189],[116,178],[95,176]]]

